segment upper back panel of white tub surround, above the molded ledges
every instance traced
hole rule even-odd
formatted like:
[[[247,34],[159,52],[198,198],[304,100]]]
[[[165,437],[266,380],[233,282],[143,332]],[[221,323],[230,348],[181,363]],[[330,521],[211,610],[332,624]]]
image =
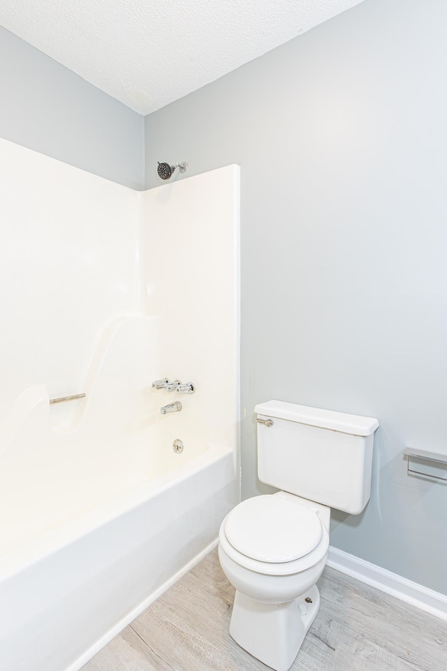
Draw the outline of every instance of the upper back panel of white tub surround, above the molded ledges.
[[[35,384],[84,391],[99,335],[139,305],[138,194],[1,139],[0,180],[1,421]]]

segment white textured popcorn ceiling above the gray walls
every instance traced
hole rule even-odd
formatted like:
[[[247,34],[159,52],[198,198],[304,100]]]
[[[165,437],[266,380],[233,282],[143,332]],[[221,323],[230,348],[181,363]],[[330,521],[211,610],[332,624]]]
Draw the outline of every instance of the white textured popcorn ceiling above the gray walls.
[[[361,0],[0,0],[0,24],[141,114]]]

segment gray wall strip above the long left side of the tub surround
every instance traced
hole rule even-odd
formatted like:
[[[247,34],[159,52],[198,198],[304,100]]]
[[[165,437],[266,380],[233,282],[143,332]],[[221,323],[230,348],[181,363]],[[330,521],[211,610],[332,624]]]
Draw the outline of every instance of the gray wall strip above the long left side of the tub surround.
[[[0,136],[133,189],[143,117],[0,27]]]

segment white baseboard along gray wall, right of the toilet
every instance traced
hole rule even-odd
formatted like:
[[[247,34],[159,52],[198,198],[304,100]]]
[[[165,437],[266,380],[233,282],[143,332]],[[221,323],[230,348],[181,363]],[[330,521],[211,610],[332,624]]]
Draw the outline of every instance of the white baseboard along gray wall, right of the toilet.
[[[364,559],[348,554],[336,547],[329,547],[328,566],[351,575],[353,578],[376,587],[397,599],[447,620],[447,596],[411,582],[401,575],[387,571]]]

